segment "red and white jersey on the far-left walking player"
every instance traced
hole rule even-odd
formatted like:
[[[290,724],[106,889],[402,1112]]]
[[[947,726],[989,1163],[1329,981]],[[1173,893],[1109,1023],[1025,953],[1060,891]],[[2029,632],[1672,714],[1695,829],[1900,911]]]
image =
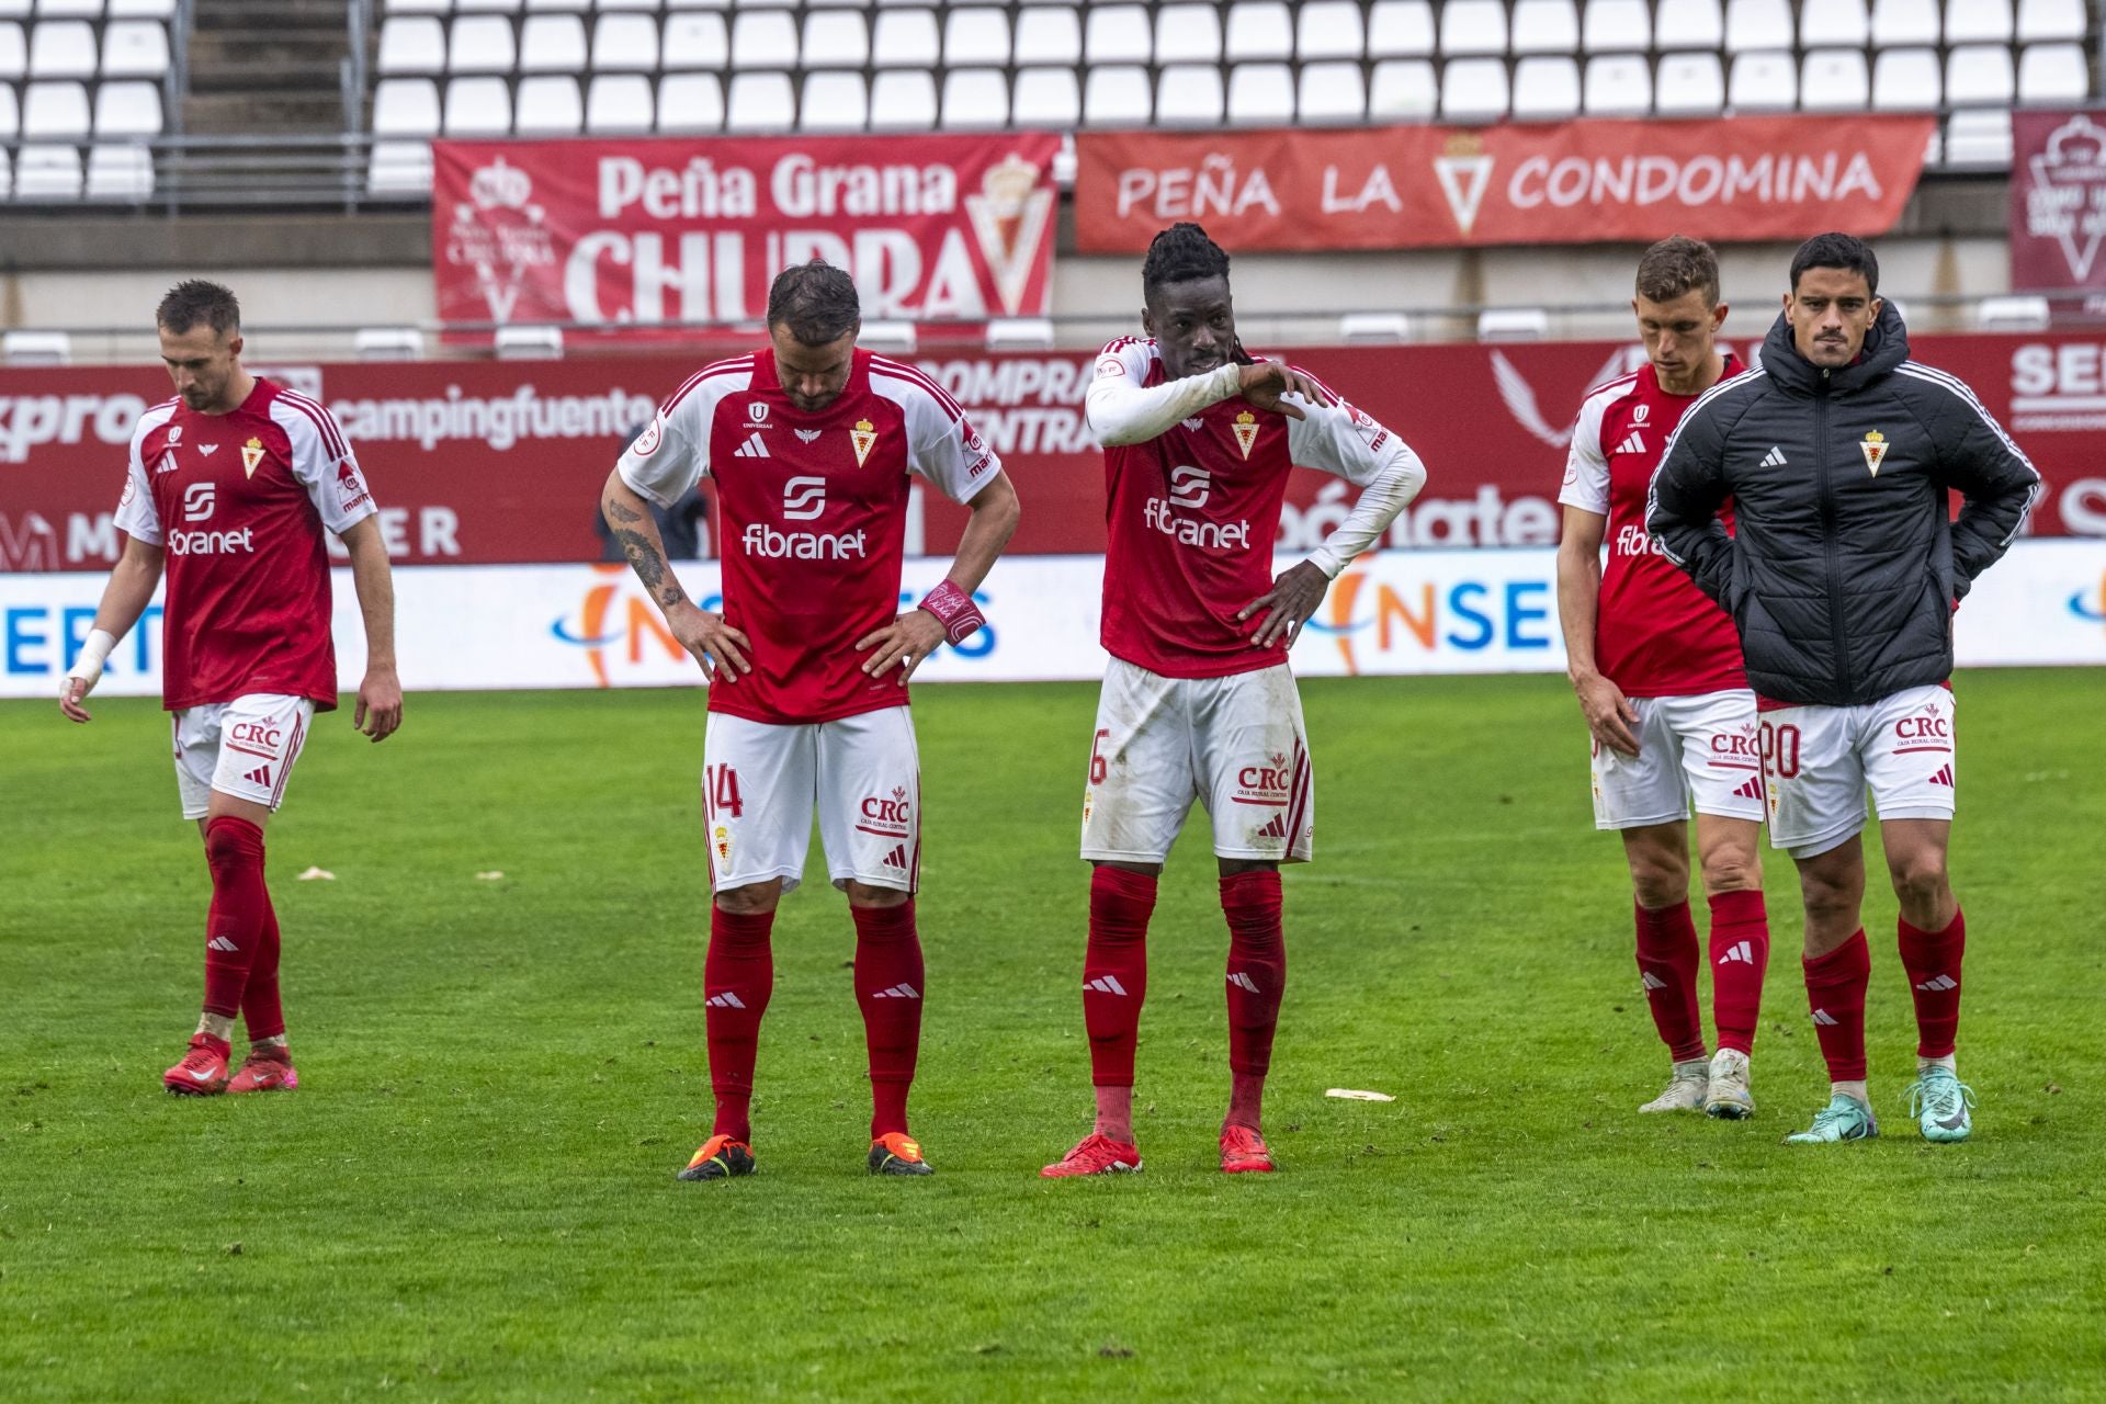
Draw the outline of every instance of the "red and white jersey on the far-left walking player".
[[[141,415],[116,524],[166,551],[162,705],[284,693],[335,707],[322,528],[375,512],[343,429],[282,385],[259,377],[225,415],[179,398]]]

